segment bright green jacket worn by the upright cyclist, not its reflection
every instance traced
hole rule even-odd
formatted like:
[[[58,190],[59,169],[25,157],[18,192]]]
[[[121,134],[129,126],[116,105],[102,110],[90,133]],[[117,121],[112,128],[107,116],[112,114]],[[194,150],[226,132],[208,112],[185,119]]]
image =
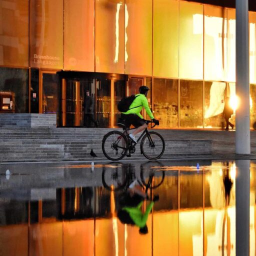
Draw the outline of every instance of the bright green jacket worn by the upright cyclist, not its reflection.
[[[151,119],[153,119],[154,116],[149,108],[146,96],[140,93],[136,94],[135,96],[136,96],[135,99],[132,101],[132,103],[129,106],[130,109],[126,112],[123,112],[123,114],[136,114],[140,118],[143,118],[143,116],[140,114],[140,111],[144,107],[148,116]],[[135,108],[132,108],[132,107],[135,107]]]

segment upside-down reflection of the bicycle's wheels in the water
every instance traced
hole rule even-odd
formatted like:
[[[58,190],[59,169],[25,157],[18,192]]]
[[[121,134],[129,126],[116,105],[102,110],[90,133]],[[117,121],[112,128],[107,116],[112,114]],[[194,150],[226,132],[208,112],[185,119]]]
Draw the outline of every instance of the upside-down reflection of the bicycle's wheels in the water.
[[[162,184],[165,176],[163,170],[157,170],[161,165],[158,161],[148,161],[140,165],[140,180],[137,183],[147,189],[153,189]],[[102,183],[109,190],[126,190],[136,180],[134,165],[130,163],[114,162],[103,166]]]

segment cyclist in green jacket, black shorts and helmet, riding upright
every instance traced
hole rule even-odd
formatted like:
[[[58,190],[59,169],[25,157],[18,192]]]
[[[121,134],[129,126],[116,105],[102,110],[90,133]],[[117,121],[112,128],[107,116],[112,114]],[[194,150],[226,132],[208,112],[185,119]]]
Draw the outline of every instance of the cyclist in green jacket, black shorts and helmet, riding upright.
[[[129,106],[129,110],[126,112],[121,113],[121,119],[124,120],[124,124],[126,127],[129,127],[131,124],[136,128],[133,129],[131,133],[129,133],[129,137],[133,140],[133,142],[137,143],[135,139],[135,134],[140,131],[143,131],[146,128],[145,120],[143,116],[140,114],[140,111],[144,107],[146,113],[151,118],[151,120],[156,124],[159,125],[159,121],[156,120],[148,106],[146,94],[149,88],[145,85],[142,85],[138,88],[139,93],[136,94],[135,99]]]

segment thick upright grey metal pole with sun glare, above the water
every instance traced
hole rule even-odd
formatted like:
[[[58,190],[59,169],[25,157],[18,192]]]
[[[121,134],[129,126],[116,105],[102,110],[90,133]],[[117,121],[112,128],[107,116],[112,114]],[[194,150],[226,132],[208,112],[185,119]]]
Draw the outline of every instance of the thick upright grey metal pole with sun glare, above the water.
[[[250,154],[248,0],[235,0],[235,152]]]

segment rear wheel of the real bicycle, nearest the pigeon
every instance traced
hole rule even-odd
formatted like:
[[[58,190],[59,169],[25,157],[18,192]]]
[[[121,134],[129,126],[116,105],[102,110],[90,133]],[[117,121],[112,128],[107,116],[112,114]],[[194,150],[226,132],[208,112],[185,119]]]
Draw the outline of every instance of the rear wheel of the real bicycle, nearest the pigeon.
[[[122,159],[127,152],[127,138],[117,130],[109,131],[102,139],[102,151],[112,161]]]

